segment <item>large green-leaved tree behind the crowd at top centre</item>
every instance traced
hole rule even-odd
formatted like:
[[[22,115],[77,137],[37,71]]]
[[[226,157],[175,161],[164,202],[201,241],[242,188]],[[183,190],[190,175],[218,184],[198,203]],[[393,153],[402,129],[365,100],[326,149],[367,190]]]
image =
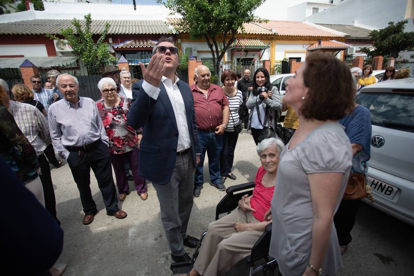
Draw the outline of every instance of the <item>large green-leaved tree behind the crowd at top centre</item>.
[[[190,34],[191,39],[205,38],[213,56],[216,73],[224,53],[236,40],[243,23],[267,22],[253,15],[265,0],[156,0],[182,16],[175,29]]]

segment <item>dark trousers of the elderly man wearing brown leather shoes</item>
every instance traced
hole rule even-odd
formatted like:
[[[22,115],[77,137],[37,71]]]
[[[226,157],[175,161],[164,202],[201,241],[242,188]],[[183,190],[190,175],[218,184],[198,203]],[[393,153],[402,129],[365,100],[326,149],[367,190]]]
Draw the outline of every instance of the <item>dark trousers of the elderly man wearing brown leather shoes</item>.
[[[89,149],[81,150],[80,156],[77,150],[70,151],[67,163],[79,190],[80,201],[86,215],[95,214],[97,211],[90,187],[91,168],[95,173],[96,180],[98,180],[106,211],[109,213],[118,212],[118,197],[112,178],[108,146],[105,143],[101,140],[95,142]]]

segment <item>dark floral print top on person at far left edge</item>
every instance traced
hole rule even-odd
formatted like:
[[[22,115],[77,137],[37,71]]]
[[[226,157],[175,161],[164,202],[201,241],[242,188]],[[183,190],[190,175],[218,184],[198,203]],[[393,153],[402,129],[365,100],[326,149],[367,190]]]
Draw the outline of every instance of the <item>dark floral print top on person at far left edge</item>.
[[[0,105],[0,142],[0,154],[17,178],[22,182],[35,179],[39,167],[36,151],[3,105]]]

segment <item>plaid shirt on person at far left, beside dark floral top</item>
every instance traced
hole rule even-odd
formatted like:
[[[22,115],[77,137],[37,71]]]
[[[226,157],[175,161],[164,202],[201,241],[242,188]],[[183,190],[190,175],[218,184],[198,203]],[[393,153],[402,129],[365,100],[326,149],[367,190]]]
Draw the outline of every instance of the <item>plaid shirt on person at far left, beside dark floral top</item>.
[[[43,154],[46,147],[52,143],[45,116],[39,109],[28,103],[10,101],[7,110],[13,115],[19,129],[34,147],[37,156]]]

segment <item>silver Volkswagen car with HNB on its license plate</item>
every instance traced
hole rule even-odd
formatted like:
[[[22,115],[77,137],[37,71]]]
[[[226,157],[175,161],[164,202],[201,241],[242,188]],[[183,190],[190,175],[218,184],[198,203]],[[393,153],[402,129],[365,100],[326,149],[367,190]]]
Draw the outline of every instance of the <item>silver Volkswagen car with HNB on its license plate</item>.
[[[371,113],[367,204],[414,226],[414,79],[364,87],[356,103]]]

